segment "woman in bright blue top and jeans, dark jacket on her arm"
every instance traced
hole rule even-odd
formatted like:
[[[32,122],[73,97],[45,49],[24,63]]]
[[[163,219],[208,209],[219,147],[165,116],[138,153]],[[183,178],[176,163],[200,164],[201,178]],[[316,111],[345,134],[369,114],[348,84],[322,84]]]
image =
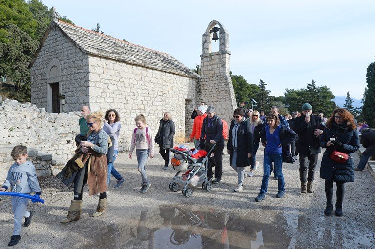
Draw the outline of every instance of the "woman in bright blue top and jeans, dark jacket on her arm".
[[[260,192],[255,201],[261,201],[266,198],[268,178],[270,176],[271,163],[274,163],[274,170],[278,176],[277,198],[283,198],[285,195],[285,182],[282,170],[283,153],[282,146],[290,144],[295,140],[296,134],[293,130],[279,124],[280,120],[277,115],[267,115],[267,125],[260,133],[262,145],[265,147],[263,159],[263,179]]]

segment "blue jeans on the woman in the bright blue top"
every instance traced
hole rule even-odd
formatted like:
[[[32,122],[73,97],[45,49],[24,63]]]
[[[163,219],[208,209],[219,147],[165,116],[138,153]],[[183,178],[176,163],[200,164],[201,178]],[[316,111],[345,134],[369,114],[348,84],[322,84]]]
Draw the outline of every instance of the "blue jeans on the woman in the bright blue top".
[[[270,168],[272,161],[274,163],[274,171],[278,176],[278,188],[279,192],[285,191],[285,182],[284,182],[284,175],[283,175],[283,154],[271,154],[271,153],[264,153],[263,159],[263,179],[262,185],[260,186],[260,192],[265,194],[267,193],[267,186],[268,186],[268,178],[270,176]]]

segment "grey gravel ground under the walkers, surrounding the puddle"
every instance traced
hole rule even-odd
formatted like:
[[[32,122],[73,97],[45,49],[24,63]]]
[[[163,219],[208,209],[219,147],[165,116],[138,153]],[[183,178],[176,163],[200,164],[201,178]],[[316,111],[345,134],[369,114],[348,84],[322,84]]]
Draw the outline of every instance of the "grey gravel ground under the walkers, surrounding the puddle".
[[[108,193],[110,207],[107,213],[99,218],[89,216],[96,208],[98,198],[88,197],[86,188],[80,220],[66,225],[61,225],[59,221],[67,214],[72,192],[56,178],[40,179],[45,204],[29,204],[29,210],[35,211],[35,216],[28,228],[22,227],[22,239],[15,248],[85,248],[84,245],[90,244],[93,240],[103,240],[98,234],[107,225],[121,220],[131,223],[134,220],[128,217],[132,217],[133,213],[156,209],[162,204],[210,207],[246,216],[246,219],[250,219],[249,223],[257,222],[269,226],[274,224],[292,238],[288,249],[375,248],[375,180],[369,172],[355,172],[354,183],[345,185],[344,216],[325,217],[324,181],[319,178],[319,169],[314,181],[315,193],[301,194],[298,161],[283,165],[286,181],[286,196],[283,199],[276,199],[277,181],[271,178],[266,199],[260,203],[255,202],[254,198],[259,192],[262,180],[262,148],[258,151],[257,159],[260,167],[254,177],[245,180],[242,192],[233,192],[237,174],[229,166],[229,155],[226,154],[223,159],[222,183],[214,185],[211,192],[194,188],[193,196],[186,198],[181,191],[171,192],[168,189],[175,172],[172,169],[163,170],[163,160],[159,154],[156,154],[154,159],[149,159],[146,167],[152,183],[150,191],[146,194],[137,194],[135,191],[140,187],[141,177],[136,170],[136,160],[127,158],[127,153],[120,153],[115,166],[125,176],[125,183],[115,189],[115,180],[111,180]],[[355,154],[354,160],[358,163],[359,155]],[[0,200],[0,247],[5,248],[13,230],[13,216],[10,198],[4,196]],[[274,239],[274,244],[270,248],[287,248],[278,244],[278,236],[269,236]]]

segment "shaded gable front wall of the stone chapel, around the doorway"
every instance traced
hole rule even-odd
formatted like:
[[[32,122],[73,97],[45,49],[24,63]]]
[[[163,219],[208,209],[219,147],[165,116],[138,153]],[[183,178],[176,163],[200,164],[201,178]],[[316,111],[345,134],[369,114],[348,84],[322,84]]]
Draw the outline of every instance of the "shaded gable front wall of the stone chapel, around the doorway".
[[[31,103],[52,112],[50,83],[60,82],[61,112],[79,111],[88,103],[88,55],[52,27],[30,70]]]

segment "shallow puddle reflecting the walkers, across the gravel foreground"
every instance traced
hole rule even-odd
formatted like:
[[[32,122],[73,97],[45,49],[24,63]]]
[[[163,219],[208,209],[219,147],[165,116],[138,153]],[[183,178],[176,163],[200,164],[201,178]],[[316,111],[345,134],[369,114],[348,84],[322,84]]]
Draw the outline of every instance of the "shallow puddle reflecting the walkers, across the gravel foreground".
[[[161,205],[122,215],[109,225],[84,231],[90,241],[79,248],[374,248],[373,234],[348,233],[344,225],[327,219],[313,227],[311,218],[295,211],[249,210],[238,215],[196,205]]]

